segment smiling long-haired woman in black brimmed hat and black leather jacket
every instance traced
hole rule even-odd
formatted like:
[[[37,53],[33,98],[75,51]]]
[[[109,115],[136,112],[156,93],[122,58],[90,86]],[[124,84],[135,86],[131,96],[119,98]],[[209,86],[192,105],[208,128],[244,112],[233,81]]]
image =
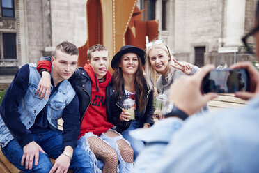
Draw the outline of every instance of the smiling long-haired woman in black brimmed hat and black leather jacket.
[[[145,52],[139,47],[125,45],[115,54],[111,61],[112,76],[110,107],[113,122],[123,137],[130,142],[134,149],[134,159],[143,149],[141,140],[133,139],[129,133],[136,128],[149,128],[154,123],[153,91],[148,92],[146,80],[143,77],[142,66],[145,64]],[[130,114],[123,109],[123,101],[127,98],[134,100],[134,119],[129,120]]]

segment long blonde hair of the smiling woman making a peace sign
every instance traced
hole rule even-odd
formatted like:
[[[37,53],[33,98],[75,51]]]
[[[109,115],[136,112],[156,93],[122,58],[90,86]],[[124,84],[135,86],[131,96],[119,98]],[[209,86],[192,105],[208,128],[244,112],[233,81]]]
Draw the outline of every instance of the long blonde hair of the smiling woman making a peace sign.
[[[162,49],[165,52],[167,52],[168,56],[170,57],[168,61],[168,66],[166,67],[167,69],[166,80],[170,80],[173,77],[173,73],[175,71],[175,68],[171,66],[171,64],[174,64],[174,61],[173,61],[173,55],[171,54],[169,47],[164,43],[164,40],[162,40],[161,43],[156,43],[156,42],[157,42],[157,39],[152,40],[151,45],[146,48],[145,77],[148,85],[148,91],[151,91],[154,89],[154,83],[155,83],[155,77],[156,77],[155,74],[157,73],[155,69],[151,66],[151,62],[150,62],[149,52],[152,49],[155,49],[155,48]]]

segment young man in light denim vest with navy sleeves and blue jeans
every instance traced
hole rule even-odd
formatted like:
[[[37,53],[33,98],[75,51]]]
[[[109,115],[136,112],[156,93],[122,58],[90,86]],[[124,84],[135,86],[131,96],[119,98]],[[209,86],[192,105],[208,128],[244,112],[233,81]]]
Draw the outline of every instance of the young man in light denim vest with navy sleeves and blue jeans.
[[[79,51],[67,41],[52,57],[52,90],[40,99],[36,89],[41,75],[36,64],[18,70],[0,107],[3,154],[22,172],[90,172],[89,157],[77,147],[79,101],[68,79],[77,69]],[[63,132],[58,130],[62,117]],[[56,161],[52,167],[50,158]]]

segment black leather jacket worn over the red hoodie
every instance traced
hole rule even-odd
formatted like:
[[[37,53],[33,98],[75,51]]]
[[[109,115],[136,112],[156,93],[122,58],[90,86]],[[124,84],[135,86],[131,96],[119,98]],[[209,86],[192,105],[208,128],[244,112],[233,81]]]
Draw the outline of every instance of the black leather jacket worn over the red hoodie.
[[[84,118],[84,113],[86,112],[88,106],[91,103],[91,94],[92,94],[92,82],[88,74],[86,73],[86,70],[84,68],[79,67],[72,77],[68,80],[71,84],[74,90],[77,92],[77,96],[79,98],[79,112],[80,112],[80,121]],[[107,105],[107,121],[110,123],[113,123],[111,121],[111,114],[108,111],[109,110],[109,99],[107,99],[108,89],[110,84],[107,86],[106,90],[106,105]]]

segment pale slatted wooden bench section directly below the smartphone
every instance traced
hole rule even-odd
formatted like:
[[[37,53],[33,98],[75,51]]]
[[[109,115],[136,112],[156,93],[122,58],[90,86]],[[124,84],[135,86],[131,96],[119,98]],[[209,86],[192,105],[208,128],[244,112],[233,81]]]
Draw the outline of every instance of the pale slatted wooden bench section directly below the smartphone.
[[[221,93],[217,98],[210,100],[207,104],[210,111],[220,110],[222,108],[242,107],[247,101],[235,97],[233,93]]]

